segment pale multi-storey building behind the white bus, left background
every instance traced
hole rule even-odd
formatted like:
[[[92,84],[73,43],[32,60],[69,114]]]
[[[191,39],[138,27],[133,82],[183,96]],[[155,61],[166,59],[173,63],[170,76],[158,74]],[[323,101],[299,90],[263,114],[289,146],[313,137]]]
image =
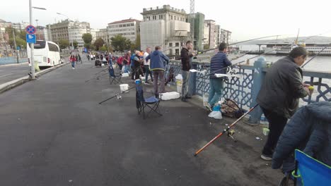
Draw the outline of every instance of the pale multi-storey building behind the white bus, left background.
[[[62,20],[60,23],[49,25],[52,42],[59,43],[61,39],[66,39],[70,43],[78,42],[79,47],[83,47],[83,34],[90,33],[90,23],[72,20]]]

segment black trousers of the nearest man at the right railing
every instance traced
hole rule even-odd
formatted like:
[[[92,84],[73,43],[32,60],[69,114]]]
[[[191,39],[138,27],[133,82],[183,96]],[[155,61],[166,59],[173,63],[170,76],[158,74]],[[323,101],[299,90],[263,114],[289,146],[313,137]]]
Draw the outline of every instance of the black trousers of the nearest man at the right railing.
[[[268,111],[267,109],[262,108],[265,117],[269,121],[269,135],[267,142],[265,142],[265,147],[263,147],[262,154],[272,156],[274,148],[277,145],[278,139],[283,132],[284,127],[287,123],[287,118],[280,116],[277,113]]]

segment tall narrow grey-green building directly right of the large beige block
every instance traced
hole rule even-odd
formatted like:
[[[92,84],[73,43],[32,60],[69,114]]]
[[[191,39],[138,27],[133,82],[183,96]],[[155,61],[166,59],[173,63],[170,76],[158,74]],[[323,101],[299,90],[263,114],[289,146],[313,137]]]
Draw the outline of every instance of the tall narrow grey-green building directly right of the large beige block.
[[[191,25],[191,38],[194,50],[201,51],[203,48],[204,41],[204,14],[203,13],[191,13],[187,16],[188,23]]]

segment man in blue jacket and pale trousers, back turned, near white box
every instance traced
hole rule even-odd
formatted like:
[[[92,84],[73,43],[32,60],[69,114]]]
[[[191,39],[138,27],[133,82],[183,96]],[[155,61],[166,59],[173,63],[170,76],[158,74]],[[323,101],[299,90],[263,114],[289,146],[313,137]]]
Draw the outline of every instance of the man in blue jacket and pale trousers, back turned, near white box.
[[[155,51],[153,51],[149,56],[146,57],[146,61],[151,60],[151,70],[153,71],[153,77],[154,77],[154,94],[156,97],[160,93],[165,92],[165,79],[164,79],[164,71],[165,66],[163,61],[166,61],[169,63],[169,58],[165,56],[161,51],[161,46],[156,46]],[[161,80],[161,87],[160,91],[158,91],[158,80]]]

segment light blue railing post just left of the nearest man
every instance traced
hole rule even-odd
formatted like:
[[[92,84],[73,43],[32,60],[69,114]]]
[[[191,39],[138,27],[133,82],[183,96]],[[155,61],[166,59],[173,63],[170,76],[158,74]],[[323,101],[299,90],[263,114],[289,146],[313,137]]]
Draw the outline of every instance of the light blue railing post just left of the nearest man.
[[[262,68],[267,67],[267,61],[264,57],[260,57],[254,63],[254,74],[253,74],[253,84],[252,84],[252,104],[250,107],[252,108],[257,104],[256,98],[257,94],[259,94],[262,82],[265,79],[265,73],[263,72]],[[258,125],[260,124],[260,118],[262,115],[262,109],[260,106],[257,106],[251,113],[250,119],[248,120],[248,124],[250,125]]]

